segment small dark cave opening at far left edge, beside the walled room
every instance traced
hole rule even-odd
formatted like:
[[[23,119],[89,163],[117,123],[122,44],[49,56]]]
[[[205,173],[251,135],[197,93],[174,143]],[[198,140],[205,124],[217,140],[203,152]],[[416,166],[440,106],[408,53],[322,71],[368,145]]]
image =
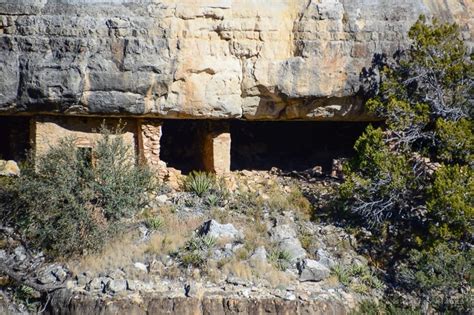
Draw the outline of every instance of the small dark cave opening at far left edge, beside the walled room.
[[[30,149],[30,119],[0,117],[0,159],[23,161]]]

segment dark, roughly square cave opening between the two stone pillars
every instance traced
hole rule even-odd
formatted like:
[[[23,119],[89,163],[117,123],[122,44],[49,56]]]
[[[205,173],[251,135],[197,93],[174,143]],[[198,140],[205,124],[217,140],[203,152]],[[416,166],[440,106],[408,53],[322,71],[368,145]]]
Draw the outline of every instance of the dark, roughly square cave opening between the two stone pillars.
[[[168,167],[184,174],[203,170],[202,132],[206,126],[207,122],[200,120],[165,120],[160,140],[160,159]]]

